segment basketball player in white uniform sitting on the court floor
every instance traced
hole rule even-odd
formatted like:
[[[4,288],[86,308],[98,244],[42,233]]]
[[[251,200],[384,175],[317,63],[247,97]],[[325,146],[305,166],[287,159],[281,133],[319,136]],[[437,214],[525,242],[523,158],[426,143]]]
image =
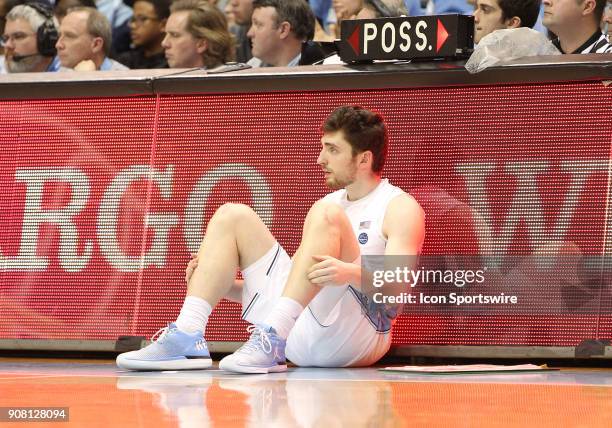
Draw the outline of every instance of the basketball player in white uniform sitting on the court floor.
[[[317,163],[335,192],[310,208],[293,258],[251,208],[221,206],[187,268],[178,319],[149,346],[119,355],[119,367],[210,367],[203,332],[224,297],[242,302],[243,318],[253,325],[221,369],[282,372],[285,355],[299,366],[367,366],[387,352],[401,306],[374,303],[361,290],[360,257],[418,254],[424,214],[414,198],[381,179],[387,130],[380,115],[339,107],[322,130]],[[237,267],[244,282],[234,279]]]

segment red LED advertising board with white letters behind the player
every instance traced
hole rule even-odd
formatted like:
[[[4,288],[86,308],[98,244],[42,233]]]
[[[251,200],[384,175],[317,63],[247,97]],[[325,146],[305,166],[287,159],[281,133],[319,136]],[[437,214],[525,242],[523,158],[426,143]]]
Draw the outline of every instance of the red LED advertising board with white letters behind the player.
[[[344,104],[384,116],[384,175],[423,206],[424,254],[503,264],[610,248],[612,99],[600,83],[3,101],[0,339],[150,336],[176,317],[189,254],[224,202],[251,205],[292,254],[327,192],[321,124]],[[407,307],[394,344],[610,338],[606,275],[572,285],[563,304],[530,290],[527,313]],[[243,340],[245,326],[222,302],[206,336]]]

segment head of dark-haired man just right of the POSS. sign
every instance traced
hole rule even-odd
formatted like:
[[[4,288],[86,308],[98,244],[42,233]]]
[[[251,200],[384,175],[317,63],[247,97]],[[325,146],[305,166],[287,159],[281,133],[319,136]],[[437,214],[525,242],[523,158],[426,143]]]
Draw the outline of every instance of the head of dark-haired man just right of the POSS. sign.
[[[541,0],[477,0],[474,11],[474,43],[495,30],[532,28]]]

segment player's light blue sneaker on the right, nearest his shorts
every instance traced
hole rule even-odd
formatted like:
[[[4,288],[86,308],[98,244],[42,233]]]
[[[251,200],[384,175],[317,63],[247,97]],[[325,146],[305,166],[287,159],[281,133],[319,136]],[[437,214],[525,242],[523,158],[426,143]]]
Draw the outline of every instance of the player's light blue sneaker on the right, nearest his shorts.
[[[219,362],[219,368],[236,373],[278,373],[287,371],[287,341],[265,325],[251,325],[249,340]]]

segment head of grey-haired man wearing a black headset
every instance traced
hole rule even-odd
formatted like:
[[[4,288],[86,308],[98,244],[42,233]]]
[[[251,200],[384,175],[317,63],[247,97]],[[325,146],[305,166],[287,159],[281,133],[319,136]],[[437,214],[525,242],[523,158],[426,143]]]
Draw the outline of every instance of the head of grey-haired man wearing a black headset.
[[[58,71],[57,37],[57,21],[49,5],[30,3],[13,7],[6,15],[2,36],[6,71]]]

